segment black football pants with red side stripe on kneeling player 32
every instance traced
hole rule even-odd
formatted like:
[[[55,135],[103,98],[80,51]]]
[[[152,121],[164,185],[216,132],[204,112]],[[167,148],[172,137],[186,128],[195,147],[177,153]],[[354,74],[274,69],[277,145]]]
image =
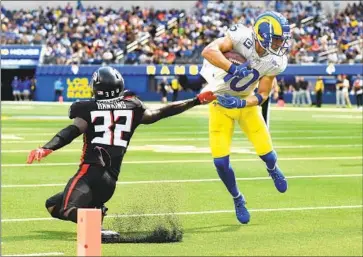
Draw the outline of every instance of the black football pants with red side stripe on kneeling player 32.
[[[63,192],[46,200],[46,208],[53,207],[54,218],[77,223],[78,208],[101,208],[111,199],[116,180],[103,168],[82,164],[68,181]]]

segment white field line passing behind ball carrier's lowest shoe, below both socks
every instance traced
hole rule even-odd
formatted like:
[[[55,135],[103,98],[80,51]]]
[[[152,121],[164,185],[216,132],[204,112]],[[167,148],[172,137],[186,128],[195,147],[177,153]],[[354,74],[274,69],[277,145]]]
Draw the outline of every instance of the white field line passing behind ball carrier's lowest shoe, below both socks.
[[[343,206],[316,206],[316,207],[297,207],[297,208],[271,208],[271,209],[249,209],[250,212],[278,212],[278,211],[309,211],[309,210],[332,210],[332,209],[357,209],[363,205],[343,205]],[[153,217],[168,215],[203,215],[218,213],[234,213],[235,210],[215,210],[215,211],[195,211],[195,212],[168,212],[168,213],[145,213],[145,214],[112,214],[105,218],[130,218],[130,217]],[[22,218],[22,219],[2,219],[1,223],[7,222],[27,222],[27,221],[53,221],[54,218]]]

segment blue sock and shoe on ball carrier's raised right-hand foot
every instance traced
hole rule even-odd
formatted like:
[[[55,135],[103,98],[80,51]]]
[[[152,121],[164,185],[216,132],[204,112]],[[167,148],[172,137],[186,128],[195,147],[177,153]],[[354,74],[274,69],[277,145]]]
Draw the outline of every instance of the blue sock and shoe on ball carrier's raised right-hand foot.
[[[267,171],[274,181],[276,189],[280,193],[284,193],[287,190],[287,181],[284,174],[277,166],[277,155],[275,151],[271,151],[268,154],[261,155],[260,158],[266,163]]]

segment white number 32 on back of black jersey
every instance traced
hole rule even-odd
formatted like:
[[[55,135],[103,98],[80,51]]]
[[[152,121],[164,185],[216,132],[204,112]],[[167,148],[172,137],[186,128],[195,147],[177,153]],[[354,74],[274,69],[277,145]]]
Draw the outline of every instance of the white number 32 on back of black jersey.
[[[125,124],[117,124],[121,117],[126,118]],[[132,110],[91,112],[92,123],[94,123],[97,118],[103,118],[103,124],[95,125],[95,132],[103,132],[103,136],[95,137],[91,143],[127,147],[127,141],[122,139],[122,133],[131,132],[133,118]],[[111,127],[113,125],[115,125],[115,128],[112,131]]]

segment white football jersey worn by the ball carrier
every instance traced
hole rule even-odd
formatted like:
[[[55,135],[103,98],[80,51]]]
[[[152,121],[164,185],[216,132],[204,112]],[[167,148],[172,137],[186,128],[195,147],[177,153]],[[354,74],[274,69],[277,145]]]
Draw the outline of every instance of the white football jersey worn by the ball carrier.
[[[233,49],[250,61],[253,73],[243,79],[237,77],[225,79],[228,72],[218,68],[204,59],[200,74],[207,81],[204,91],[212,91],[218,94],[230,94],[245,98],[254,92],[260,78],[263,76],[276,76],[283,72],[287,66],[287,56],[267,54],[259,57],[255,49],[253,28],[247,28],[242,24],[232,26],[227,34],[233,42]],[[230,75],[228,76],[230,77]]]

